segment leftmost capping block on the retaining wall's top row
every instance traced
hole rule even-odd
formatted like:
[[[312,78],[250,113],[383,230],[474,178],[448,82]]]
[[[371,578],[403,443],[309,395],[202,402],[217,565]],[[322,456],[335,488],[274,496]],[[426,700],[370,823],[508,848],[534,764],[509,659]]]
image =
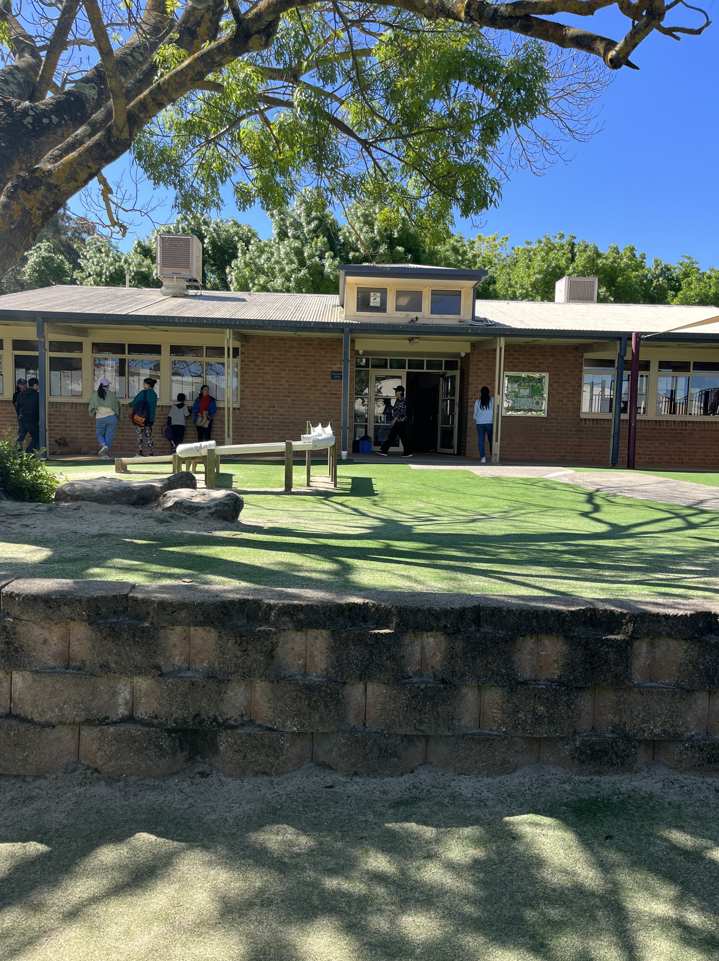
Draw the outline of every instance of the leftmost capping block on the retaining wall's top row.
[[[21,621],[106,621],[126,617],[135,585],[124,580],[27,578],[3,588],[3,613]]]

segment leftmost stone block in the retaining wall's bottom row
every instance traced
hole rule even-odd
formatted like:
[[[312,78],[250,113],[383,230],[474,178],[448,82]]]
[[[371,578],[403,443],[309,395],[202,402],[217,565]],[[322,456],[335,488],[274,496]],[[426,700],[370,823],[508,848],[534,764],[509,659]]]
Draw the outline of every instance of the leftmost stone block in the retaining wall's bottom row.
[[[17,718],[0,718],[0,775],[49,775],[77,756],[77,725],[41,727]]]

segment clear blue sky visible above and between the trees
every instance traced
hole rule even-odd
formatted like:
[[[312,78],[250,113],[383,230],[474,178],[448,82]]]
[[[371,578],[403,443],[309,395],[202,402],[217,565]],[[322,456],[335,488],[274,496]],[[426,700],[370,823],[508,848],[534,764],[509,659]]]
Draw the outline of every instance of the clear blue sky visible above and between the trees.
[[[707,9],[719,19],[719,7]],[[669,16],[687,26],[701,21],[682,7]],[[616,38],[628,24],[615,9],[560,19]],[[675,261],[691,254],[705,268],[719,267],[719,23],[702,37],[683,37],[679,43],[655,33],[632,61],[640,70],[619,71],[599,103],[598,134],[588,143],[570,145],[567,162],[542,177],[515,173],[499,208],[488,211],[478,226],[458,219],[459,230],[508,234],[513,244],[564,231],[603,249],[612,242],[634,244],[649,259]],[[113,164],[111,182],[125,165],[125,160]],[[260,236],[271,235],[260,209],[238,214],[229,190],[227,198],[224,216],[251,223]],[[155,216],[172,219],[171,204]],[[123,246],[131,243],[129,236]]]

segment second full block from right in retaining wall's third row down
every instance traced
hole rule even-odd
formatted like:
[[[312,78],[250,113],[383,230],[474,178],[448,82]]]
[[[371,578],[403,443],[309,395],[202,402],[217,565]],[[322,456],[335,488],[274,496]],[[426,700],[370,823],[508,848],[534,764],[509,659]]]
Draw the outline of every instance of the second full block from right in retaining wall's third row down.
[[[520,737],[565,737],[592,727],[593,690],[536,682],[483,687],[480,727]]]

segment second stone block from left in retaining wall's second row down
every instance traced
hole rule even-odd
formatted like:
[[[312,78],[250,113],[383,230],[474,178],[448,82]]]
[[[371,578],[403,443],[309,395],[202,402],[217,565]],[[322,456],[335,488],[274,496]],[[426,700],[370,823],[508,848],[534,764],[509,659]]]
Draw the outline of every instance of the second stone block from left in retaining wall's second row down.
[[[70,665],[92,674],[156,675],[186,671],[189,628],[132,621],[72,624]]]

